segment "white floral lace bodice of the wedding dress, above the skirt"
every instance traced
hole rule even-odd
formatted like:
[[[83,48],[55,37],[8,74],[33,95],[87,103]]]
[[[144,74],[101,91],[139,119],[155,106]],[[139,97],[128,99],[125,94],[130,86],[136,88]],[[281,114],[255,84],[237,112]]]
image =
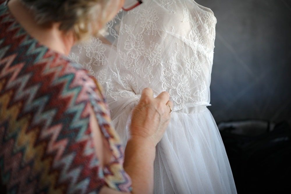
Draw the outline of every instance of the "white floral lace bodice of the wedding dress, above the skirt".
[[[138,101],[150,87],[155,95],[168,91],[173,111],[210,105],[216,18],[193,0],[144,1],[107,24],[113,49],[93,38],[74,52],[107,89],[109,104]],[[78,54],[79,55],[79,54]]]

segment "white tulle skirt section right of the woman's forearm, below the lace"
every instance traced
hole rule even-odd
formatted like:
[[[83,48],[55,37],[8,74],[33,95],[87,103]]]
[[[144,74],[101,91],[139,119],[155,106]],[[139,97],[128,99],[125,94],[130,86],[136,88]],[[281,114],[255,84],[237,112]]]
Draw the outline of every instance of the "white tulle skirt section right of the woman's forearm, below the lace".
[[[236,193],[228,157],[208,108],[171,114],[157,145],[154,193]]]

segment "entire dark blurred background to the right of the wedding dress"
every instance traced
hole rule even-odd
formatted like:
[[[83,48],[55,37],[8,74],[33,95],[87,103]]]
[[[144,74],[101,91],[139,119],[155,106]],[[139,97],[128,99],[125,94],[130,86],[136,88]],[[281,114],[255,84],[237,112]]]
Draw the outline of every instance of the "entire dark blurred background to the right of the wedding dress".
[[[291,0],[196,0],[217,18],[211,104],[238,193],[289,193]]]

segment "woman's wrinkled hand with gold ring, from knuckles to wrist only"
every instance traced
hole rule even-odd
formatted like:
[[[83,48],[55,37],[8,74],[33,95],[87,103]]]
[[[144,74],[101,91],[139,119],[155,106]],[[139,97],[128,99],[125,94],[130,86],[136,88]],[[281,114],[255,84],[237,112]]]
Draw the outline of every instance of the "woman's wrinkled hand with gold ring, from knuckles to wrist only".
[[[169,98],[168,92],[162,92],[154,98],[152,89],[143,89],[141,99],[132,112],[130,138],[142,138],[153,146],[159,143],[171,118],[170,108],[166,106],[173,107]]]

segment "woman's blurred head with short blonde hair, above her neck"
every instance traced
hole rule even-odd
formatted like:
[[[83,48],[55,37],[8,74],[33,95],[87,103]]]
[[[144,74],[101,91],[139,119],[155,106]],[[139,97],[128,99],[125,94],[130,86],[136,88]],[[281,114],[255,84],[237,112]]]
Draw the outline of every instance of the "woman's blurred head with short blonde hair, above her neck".
[[[117,1],[117,2],[116,2]],[[38,24],[59,22],[59,29],[74,31],[78,41],[96,35],[116,11],[120,0],[22,0]]]

